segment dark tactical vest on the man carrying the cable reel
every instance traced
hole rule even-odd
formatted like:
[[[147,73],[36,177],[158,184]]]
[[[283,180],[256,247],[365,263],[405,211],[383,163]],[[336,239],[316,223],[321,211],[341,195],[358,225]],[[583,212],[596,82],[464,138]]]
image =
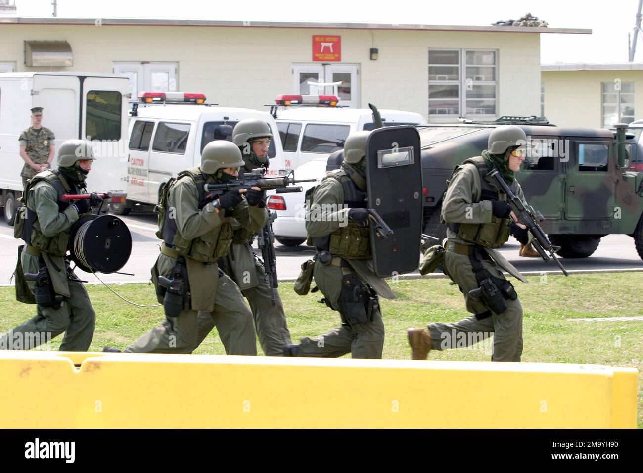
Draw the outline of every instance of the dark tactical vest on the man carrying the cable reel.
[[[69,184],[68,181],[60,174],[58,170],[47,170],[39,172],[33,176],[28,182],[26,189],[24,189],[24,203],[27,209],[26,218],[21,218],[20,209],[16,215],[16,220],[21,218],[21,221],[16,221],[18,225],[16,230],[19,230],[20,237],[27,245],[35,246],[40,250],[47,252],[51,255],[64,256],[67,254],[69,244],[69,232],[60,232],[59,234],[48,237],[44,236],[41,230],[40,222],[38,221],[38,214],[35,209],[29,207],[29,196],[33,192],[33,186],[40,182],[47,181],[56,190],[58,211],[64,212],[69,207],[69,201],[63,200],[64,194],[80,194],[80,190],[76,185]],[[84,187],[82,188],[84,189]],[[71,230],[71,228],[69,228]],[[14,234],[15,236],[15,234]]]

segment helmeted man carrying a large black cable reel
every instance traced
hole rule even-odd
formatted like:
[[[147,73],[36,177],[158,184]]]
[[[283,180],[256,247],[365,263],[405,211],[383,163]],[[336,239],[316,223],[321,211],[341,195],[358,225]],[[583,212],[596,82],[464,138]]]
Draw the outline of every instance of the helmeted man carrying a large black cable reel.
[[[68,140],[60,146],[58,169],[39,172],[26,184],[26,216],[19,217],[14,228],[26,243],[15,272],[16,295],[32,304],[35,295],[39,303],[35,317],[0,337],[0,348],[30,349],[65,332],[61,351],[89,349],[96,314],[66,255],[69,230],[79,218],[91,214],[90,205],[98,206],[102,199],[91,194],[89,201],[70,203],[62,196],[85,193],[84,181],[93,160],[88,142]],[[23,272],[38,274],[39,287],[25,281]]]

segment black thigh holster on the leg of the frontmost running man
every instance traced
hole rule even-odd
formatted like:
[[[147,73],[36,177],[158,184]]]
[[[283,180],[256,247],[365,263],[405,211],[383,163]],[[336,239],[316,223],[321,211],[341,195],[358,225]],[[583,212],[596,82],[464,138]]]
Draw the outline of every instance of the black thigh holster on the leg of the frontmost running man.
[[[507,310],[507,301],[515,301],[518,299],[518,294],[507,279],[494,277],[484,268],[482,259],[485,258],[488,256],[482,248],[475,245],[469,247],[469,261],[478,281],[478,288],[469,291],[469,296],[482,302],[487,309],[500,314]],[[482,320],[489,317],[491,313],[484,312],[479,315],[481,317],[476,315],[476,318]]]

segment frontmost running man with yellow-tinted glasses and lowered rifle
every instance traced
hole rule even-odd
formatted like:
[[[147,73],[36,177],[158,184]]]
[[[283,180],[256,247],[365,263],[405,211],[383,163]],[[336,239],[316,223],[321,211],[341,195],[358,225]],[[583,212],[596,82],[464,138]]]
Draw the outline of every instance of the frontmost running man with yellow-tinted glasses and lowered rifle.
[[[527,136],[520,127],[497,127],[489,134],[489,149],[482,156],[464,161],[451,176],[442,205],[448,238],[444,269],[464,294],[467,311],[474,315],[455,323],[429,324],[428,329],[408,329],[413,359],[425,360],[431,349],[469,346],[494,333],[491,359],[520,361],[522,306],[498,266],[524,283],[527,280],[493,248],[505,243],[509,234],[527,245],[529,235],[524,225],[515,223],[516,215],[505,194],[502,190],[498,192],[487,174],[497,169],[514,195],[524,201],[514,172],[520,171],[520,163],[525,159],[524,150],[518,145],[526,142]],[[489,283],[495,286],[495,295]],[[482,297],[469,294],[481,286],[486,289]]]

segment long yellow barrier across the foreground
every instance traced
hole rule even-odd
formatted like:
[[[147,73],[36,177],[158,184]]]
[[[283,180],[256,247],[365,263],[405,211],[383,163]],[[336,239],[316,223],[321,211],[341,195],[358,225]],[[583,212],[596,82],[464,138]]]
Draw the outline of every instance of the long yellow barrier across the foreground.
[[[637,370],[597,365],[3,351],[0,380],[3,428],[636,427]]]

